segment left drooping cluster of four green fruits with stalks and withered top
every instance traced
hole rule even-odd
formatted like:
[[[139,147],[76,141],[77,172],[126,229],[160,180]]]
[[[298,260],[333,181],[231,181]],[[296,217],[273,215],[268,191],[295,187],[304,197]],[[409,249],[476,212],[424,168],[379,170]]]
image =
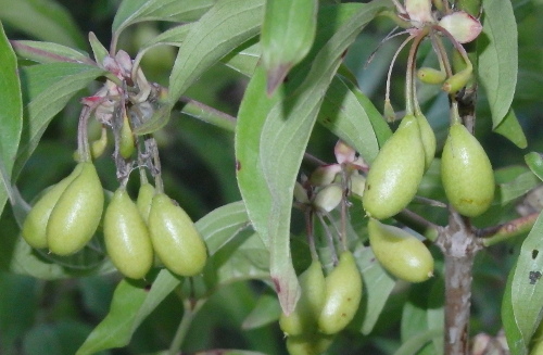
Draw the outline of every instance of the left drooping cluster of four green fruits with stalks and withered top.
[[[123,51],[115,58],[106,56],[102,66],[125,85],[108,80],[94,96],[81,100],[84,109],[75,154],[79,163],[34,205],[24,223],[23,238],[33,248],[71,255],[94,236],[104,210],[104,191],[92,159],[105,151],[106,128],[110,128],[121,186],[103,214],[103,239],[109,257],[124,276],[132,279],[143,278],[149,272],[155,262],[154,254],[179,276],[198,275],[207,258],[205,243],[190,217],[163,191],[154,139],[149,135],[135,135],[135,129],[143,126],[160,109],[165,92],[149,84]],[[134,83],[137,90],[126,90],[126,86]],[[91,115],[102,124],[102,134],[99,140],[89,144],[87,126]],[[126,185],[136,166],[140,170],[141,186],[135,203]],[[146,168],[154,178],[156,189],[148,182]]]

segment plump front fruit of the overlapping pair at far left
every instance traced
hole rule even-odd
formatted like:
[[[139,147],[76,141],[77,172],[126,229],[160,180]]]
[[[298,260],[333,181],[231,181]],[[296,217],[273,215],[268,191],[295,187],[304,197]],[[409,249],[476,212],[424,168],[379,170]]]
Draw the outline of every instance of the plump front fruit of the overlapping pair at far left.
[[[66,187],[47,224],[49,250],[58,255],[79,251],[94,234],[103,211],[104,193],[94,165],[79,163],[81,172]]]

